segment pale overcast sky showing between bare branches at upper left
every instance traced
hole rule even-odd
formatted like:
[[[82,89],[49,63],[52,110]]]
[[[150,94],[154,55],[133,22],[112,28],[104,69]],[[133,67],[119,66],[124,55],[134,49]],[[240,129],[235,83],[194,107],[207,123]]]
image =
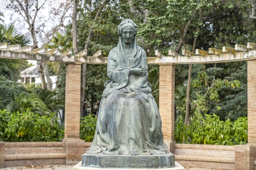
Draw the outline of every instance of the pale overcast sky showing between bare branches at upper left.
[[[39,0],[38,2],[44,3],[44,0]],[[40,30],[36,33],[39,48],[44,45],[44,41],[46,40],[45,34],[51,31],[54,26],[58,25],[60,18],[58,14],[62,14],[62,11],[64,10],[64,8],[61,6],[61,3],[66,3],[66,0],[47,0],[43,8],[38,12],[37,18],[41,19],[36,20],[35,30]],[[20,14],[14,11],[14,9],[11,10],[7,8],[9,4],[10,0],[0,0],[0,12],[4,15],[4,17],[1,17],[1,19],[4,20],[2,24],[13,24],[20,34],[26,35],[30,38],[31,36],[29,34],[28,24],[23,19],[23,17],[20,16]],[[72,19],[72,10],[73,8],[70,8],[67,11],[67,14],[64,18],[64,26],[66,26]],[[55,14],[57,14],[57,16],[53,14],[54,12],[56,12]],[[43,25],[45,26],[43,27]],[[61,28],[60,31],[64,33],[64,28]],[[28,45],[32,45],[32,43]],[[29,60],[29,62],[32,62],[33,65],[36,64],[36,61]]]

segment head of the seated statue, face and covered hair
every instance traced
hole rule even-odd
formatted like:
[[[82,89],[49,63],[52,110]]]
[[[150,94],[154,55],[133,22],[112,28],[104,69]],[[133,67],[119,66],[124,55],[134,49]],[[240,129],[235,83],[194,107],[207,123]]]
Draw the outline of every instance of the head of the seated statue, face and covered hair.
[[[118,35],[125,44],[130,44],[137,34],[137,25],[131,19],[122,20],[118,26]]]

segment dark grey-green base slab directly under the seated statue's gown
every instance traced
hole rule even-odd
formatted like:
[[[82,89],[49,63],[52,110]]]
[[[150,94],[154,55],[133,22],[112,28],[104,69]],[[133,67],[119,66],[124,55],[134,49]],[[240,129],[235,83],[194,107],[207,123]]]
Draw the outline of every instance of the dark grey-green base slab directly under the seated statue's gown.
[[[174,167],[172,153],[161,155],[82,155],[82,166],[99,168],[165,168]]]

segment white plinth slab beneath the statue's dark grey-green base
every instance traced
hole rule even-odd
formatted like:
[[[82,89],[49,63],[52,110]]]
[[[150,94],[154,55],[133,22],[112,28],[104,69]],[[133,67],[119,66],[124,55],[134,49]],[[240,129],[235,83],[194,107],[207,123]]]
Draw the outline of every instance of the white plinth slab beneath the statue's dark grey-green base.
[[[145,168],[98,168],[98,167],[82,167],[82,161],[73,167],[73,170],[185,170],[178,162],[175,162],[175,167],[145,169]]]

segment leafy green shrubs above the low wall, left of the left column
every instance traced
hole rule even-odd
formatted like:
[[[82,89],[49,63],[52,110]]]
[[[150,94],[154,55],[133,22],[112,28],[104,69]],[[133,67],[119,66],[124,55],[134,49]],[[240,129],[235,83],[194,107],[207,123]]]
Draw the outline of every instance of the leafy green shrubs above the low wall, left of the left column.
[[[40,116],[29,110],[9,112],[0,110],[0,140],[5,142],[52,142],[61,141],[64,130],[61,130],[57,119]]]

